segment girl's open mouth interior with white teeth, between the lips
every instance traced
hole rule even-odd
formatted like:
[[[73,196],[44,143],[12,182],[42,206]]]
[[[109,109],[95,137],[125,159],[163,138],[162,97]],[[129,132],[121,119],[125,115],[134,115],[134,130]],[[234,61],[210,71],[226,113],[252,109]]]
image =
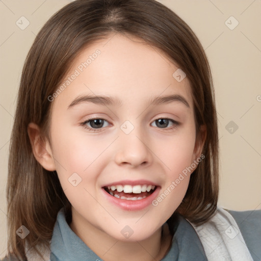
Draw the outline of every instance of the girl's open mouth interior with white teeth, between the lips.
[[[102,187],[111,196],[122,200],[141,200],[150,196],[159,186],[155,185],[115,185]]]

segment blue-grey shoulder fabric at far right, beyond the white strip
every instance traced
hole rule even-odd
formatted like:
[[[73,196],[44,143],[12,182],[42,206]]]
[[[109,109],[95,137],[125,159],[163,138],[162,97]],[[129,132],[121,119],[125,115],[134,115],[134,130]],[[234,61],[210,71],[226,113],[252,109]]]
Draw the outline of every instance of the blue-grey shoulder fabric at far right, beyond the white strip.
[[[237,222],[243,239],[254,260],[261,258],[261,210],[226,210]]]

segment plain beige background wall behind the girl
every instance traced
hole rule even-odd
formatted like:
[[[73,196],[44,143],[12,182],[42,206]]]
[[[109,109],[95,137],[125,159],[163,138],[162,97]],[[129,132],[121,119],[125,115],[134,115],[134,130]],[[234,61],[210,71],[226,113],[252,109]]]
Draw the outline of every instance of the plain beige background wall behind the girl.
[[[0,257],[6,253],[6,181],[10,133],[22,65],[36,34],[66,0],[0,1]],[[210,61],[220,137],[219,204],[231,210],[261,208],[261,1],[161,0],[199,37]],[[30,24],[21,30],[16,21]],[[225,21],[239,22],[230,30]],[[229,18],[229,27],[236,25]],[[237,124],[233,133],[230,125]],[[226,127],[227,126],[227,127]],[[228,131],[227,131],[228,129]]]

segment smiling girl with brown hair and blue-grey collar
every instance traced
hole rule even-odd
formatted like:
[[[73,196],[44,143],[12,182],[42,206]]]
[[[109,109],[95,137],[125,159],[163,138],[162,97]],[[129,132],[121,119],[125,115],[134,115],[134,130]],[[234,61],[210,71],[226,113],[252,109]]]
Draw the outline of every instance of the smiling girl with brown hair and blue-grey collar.
[[[259,260],[218,201],[210,66],[153,0],[77,0],[37,35],[10,147],[4,260]]]

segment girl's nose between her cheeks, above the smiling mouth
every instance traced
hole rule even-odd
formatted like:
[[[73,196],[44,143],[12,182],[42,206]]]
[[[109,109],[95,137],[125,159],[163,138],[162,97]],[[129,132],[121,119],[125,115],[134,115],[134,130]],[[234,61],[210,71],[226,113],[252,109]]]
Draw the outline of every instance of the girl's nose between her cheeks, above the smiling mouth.
[[[117,140],[115,162],[118,165],[138,167],[151,164],[152,154],[149,149],[148,138],[145,138],[145,135],[142,134],[141,128],[135,127],[129,134],[122,132]]]

